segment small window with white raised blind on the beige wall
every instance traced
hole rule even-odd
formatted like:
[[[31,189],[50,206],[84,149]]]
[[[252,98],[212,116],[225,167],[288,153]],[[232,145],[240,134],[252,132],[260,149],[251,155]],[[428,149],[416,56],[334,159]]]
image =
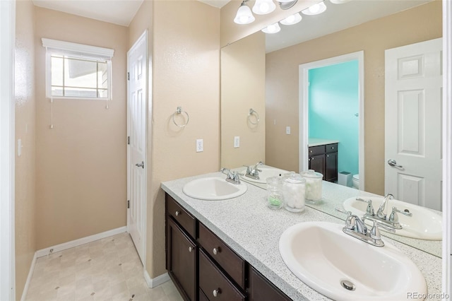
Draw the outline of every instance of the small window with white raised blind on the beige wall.
[[[112,99],[112,49],[44,38],[42,45],[47,98]]]

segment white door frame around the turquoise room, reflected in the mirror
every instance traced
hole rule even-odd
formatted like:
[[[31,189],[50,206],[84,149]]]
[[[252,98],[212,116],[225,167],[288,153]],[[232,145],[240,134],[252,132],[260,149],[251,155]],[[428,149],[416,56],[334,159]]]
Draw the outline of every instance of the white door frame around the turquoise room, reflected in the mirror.
[[[356,59],[359,72],[359,189],[364,190],[364,51],[299,65],[299,171],[308,169],[309,70]]]

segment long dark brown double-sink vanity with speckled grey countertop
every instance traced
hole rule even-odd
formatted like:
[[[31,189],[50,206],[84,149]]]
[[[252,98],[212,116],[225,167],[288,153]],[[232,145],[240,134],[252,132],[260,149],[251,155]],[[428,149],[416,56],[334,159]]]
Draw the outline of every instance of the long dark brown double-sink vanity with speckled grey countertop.
[[[344,221],[305,208],[302,213],[266,206],[266,191],[247,184],[242,196],[203,201],[182,189],[194,179],[220,172],[163,182],[166,192],[167,270],[185,300],[328,300],[285,265],[278,249],[283,232],[302,222]],[[336,190],[338,189],[338,190]],[[323,182],[323,205],[353,196],[370,195]],[[330,205],[331,206],[331,205]],[[420,269],[429,300],[441,293],[441,258],[383,237]],[[308,243],[308,242],[307,242]]]

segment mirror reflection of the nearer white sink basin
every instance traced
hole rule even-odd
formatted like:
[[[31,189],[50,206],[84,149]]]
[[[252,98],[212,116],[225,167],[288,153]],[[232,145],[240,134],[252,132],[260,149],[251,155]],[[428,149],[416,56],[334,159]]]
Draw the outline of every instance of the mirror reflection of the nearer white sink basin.
[[[362,197],[362,199],[371,199],[374,211],[378,210],[383,197]],[[357,216],[363,216],[366,213],[367,203],[357,201],[356,198],[345,200],[343,206],[346,211],[352,211]],[[420,240],[442,240],[443,237],[443,217],[437,213],[429,211],[427,208],[413,205],[396,199],[388,200],[385,212],[391,214],[393,206],[400,211],[409,210],[412,216],[404,216],[398,213],[398,221],[402,225],[402,229],[396,230],[396,235],[418,238]],[[380,228],[384,230],[383,228]]]

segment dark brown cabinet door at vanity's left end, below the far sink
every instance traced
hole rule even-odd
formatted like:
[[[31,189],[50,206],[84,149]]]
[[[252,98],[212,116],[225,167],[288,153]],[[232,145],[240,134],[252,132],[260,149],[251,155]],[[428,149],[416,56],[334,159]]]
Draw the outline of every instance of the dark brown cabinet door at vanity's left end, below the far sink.
[[[167,218],[167,269],[184,300],[196,300],[196,244]]]

